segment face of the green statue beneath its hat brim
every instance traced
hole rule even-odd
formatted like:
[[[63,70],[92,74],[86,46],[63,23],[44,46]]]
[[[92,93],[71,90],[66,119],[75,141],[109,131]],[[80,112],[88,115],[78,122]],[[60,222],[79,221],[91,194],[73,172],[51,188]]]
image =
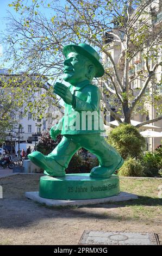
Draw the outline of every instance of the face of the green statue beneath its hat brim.
[[[71,84],[76,84],[87,79],[88,73],[87,59],[76,53],[70,52],[64,61],[64,80]]]

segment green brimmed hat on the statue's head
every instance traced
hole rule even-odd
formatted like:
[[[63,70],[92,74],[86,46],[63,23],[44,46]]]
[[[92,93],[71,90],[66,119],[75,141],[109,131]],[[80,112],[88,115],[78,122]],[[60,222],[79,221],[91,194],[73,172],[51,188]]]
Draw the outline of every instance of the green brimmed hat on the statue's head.
[[[70,52],[77,52],[79,54],[82,54],[86,58],[90,59],[96,68],[95,77],[103,76],[104,68],[103,68],[103,65],[99,62],[99,55],[94,50],[94,48],[92,48],[90,45],[88,45],[88,44],[66,45],[63,48],[63,53],[64,53],[65,57],[67,57],[68,53],[70,53]]]

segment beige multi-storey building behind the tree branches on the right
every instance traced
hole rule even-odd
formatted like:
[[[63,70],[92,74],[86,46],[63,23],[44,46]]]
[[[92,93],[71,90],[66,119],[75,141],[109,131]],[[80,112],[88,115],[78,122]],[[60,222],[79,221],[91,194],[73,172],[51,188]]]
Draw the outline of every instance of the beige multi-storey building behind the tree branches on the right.
[[[142,24],[142,20],[148,21],[150,22],[150,25],[151,25],[149,29],[152,29],[152,33],[154,33],[157,29],[162,27],[162,1],[161,0],[152,1],[151,6],[149,6],[149,8],[151,9],[151,11],[148,11],[147,10],[148,7],[146,7],[145,14],[143,14],[143,16],[141,16],[140,19],[136,21],[136,23],[134,23],[134,27],[141,26],[140,23]],[[131,9],[129,12],[129,15],[133,15],[133,13],[134,13],[134,10]],[[120,27],[120,29],[118,29],[117,25],[114,26],[114,29],[112,29],[111,32],[120,36],[121,39],[124,38],[124,33],[122,33],[122,28]],[[141,33],[145,33],[145,32],[141,31]],[[114,36],[112,35],[112,33],[107,32],[105,33],[105,36],[103,38],[103,43],[106,46],[106,50],[111,53],[111,56],[113,57],[115,65],[118,66],[119,76],[122,79],[125,53],[121,49],[120,42],[117,42],[117,40],[114,40]],[[148,45],[148,47],[150,46],[149,40],[146,41],[146,44]],[[147,47],[145,48],[144,51],[147,51]],[[159,47],[159,51],[161,51],[160,47]],[[142,88],[145,82],[144,80],[142,80],[140,76],[140,74],[144,74],[144,72],[146,72],[146,62],[142,57],[144,56],[143,53],[144,52],[138,52],[129,63],[129,68],[128,68],[128,80],[130,82],[129,91],[131,92],[132,90],[133,96],[138,95],[139,90]],[[159,57],[160,59],[162,58],[161,56],[162,54]],[[103,63],[105,65],[105,68],[108,68],[109,70],[113,69],[111,61],[105,53],[102,54],[102,58],[103,58]],[[148,58],[149,69],[151,69],[153,65],[154,65],[154,60],[152,58]],[[162,79],[162,66],[158,66],[154,76],[154,80],[156,81],[156,83],[154,83],[152,80],[149,82],[149,86],[148,86],[149,88],[148,94],[151,100],[147,103],[146,102],[144,103],[144,107],[147,109],[147,114],[134,113],[132,117],[133,120],[142,122],[142,121],[151,120],[157,117],[158,108],[154,107],[153,94],[156,93],[157,95],[162,96],[162,84],[161,86],[157,87],[157,83],[160,83],[161,79]],[[114,77],[114,81],[115,81],[115,77]],[[110,81],[107,81],[107,83],[111,84]],[[111,109],[113,108],[115,109],[116,106],[111,105]],[[162,131],[162,120],[159,120],[152,124],[155,126],[161,127],[161,129],[155,129],[155,131],[158,131],[158,132]],[[161,144],[161,138],[148,138],[147,142],[148,142],[148,150],[152,151],[155,148],[157,148],[158,145]]]

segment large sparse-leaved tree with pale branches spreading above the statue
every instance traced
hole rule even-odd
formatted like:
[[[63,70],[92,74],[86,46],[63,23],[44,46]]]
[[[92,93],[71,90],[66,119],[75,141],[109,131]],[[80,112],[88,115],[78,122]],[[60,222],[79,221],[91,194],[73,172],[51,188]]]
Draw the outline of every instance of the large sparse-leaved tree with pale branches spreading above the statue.
[[[124,123],[129,124],[133,114],[141,111],[145,102],[152,101],[154,107],[158,106],[158,115],[145,124],[162,119],[161,98],[157,93],[161,79],[156,77],[161,69],[162,27],[157,25],[160,18],[156,1],[66,0],[61,5],[57,0],[33,0],[25,4],[23,0],[11,2],[10,6],[21,17],[17,20],[10,14],[11,26],[3,40],[9,45],[5,60],[14,57],[14,69],[23,68],[27,73],[53,79],[63,74],[63,46],[89,42],[105,54],[111,65],[105,66],[102,97],[103,106],[113,117],[122,123],[122,114]],[[112,47],[119,51],[117,61],[111,54]],[[141,66],[139,72],[133,71],[136,65]],[[130,71],[134,73],[132,78]],[[134,94],[131,84],[135,81],[141,81],[142,85]],[[117,102],[118,113],[111,110],[110,102]]]

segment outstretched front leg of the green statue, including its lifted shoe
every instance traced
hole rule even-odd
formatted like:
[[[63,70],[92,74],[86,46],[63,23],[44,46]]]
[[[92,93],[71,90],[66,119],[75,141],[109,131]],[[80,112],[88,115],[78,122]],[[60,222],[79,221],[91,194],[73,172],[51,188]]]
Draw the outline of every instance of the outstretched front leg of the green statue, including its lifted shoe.
[[[37,166],[45,170],[45,174],[50,176],[65,176],[65,169],[71,160],[71,157],[79,149],[79,145],[75,144],[63,136],[57,147],[47,156],[39,151],[29,154],[29,159]]]

